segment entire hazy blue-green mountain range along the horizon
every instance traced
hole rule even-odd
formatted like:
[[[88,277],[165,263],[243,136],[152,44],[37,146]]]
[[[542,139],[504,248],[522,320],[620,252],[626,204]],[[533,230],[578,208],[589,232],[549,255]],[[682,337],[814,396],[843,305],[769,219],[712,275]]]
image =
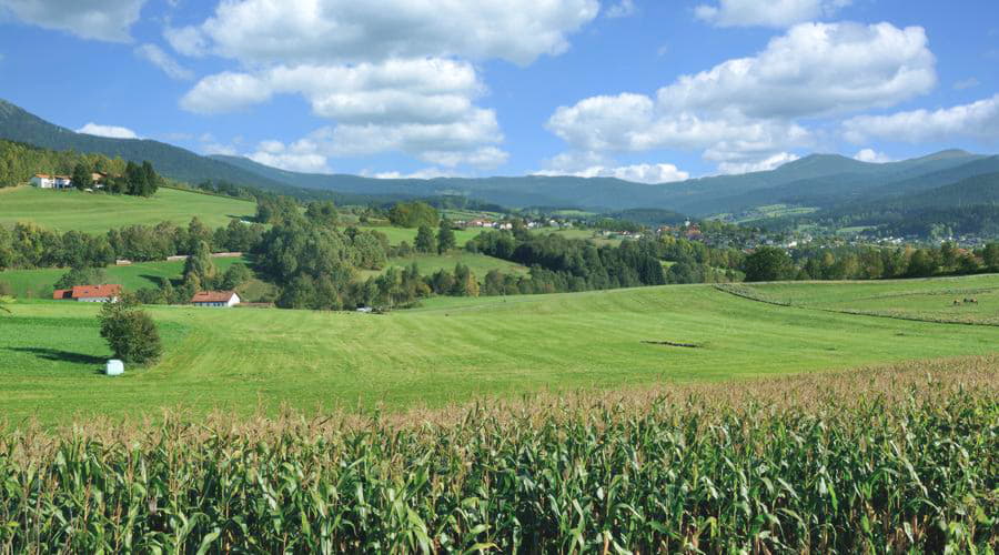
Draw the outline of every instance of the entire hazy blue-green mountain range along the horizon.
[[[203,157],[159,141],[81,134],[2,100],[0,139],[53,150],[72,149],[127,160],[149,160],[160,173],[179,181],[229,181],[286,194],[323,191],[359,200],[461,195],[511,208],[559,206],[594,211],[656,208],[694,216],[737,213],[777,203],[825,211],[861,206],[928,193],[970,178],[999,173],[997,155],[948,150],[891,163],[867,163],[837,154],[813,154],[771,171],[656,185],[614,178],[539,175],[373,179],[297,173],[241,157]],[[986,189],[991,190],[990,186]],[[965,196],[962,199],[963,202],[969,201]],[[985,198],[982,202],[992,203]]]

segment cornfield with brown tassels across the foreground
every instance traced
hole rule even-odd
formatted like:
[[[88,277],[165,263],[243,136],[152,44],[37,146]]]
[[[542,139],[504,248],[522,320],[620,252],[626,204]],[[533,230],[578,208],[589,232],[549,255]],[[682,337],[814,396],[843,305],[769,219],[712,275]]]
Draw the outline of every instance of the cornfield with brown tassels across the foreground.
[[[977,552],[997,359],[0,435],[0,552]]]

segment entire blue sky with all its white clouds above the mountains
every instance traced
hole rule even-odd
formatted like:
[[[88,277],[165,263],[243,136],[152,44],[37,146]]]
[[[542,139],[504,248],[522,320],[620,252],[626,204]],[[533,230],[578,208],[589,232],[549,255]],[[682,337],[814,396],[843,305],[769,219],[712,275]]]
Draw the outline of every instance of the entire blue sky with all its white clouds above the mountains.
[[[997,68],[995,0],[0,0],[49,121],[374,176],[991,153]]]

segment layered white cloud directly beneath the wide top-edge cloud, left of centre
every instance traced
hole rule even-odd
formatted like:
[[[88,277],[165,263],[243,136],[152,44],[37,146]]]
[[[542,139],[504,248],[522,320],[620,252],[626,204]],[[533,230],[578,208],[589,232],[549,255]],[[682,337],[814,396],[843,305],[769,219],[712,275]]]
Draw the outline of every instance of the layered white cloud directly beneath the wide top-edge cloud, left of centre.
[[[391,59],[344,65],[278,65],[259,73],[202,79],[181,105],[199,113],[231,111],[275,94],[301,94],[319,117],[336,122],[307,140],[323,157],[398,151],[427,163],[495,168],[507,153],[493,110],[474,105],[484,91],[471,63]],[[284,167],[301,159],[279,160]],[[315,165],[317,159],[307,159]]]

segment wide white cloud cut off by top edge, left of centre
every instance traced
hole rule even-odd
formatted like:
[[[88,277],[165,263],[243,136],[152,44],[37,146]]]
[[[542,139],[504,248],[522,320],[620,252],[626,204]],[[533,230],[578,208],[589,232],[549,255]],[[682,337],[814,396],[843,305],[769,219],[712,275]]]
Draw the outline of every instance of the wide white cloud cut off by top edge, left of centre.
[[[597,0],[230,0],[168,39],[182,53],[248,63],[462,57],[527,64],[564,52],[566,37],[598,11]]]

